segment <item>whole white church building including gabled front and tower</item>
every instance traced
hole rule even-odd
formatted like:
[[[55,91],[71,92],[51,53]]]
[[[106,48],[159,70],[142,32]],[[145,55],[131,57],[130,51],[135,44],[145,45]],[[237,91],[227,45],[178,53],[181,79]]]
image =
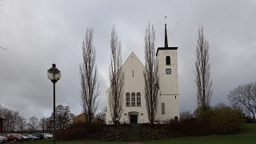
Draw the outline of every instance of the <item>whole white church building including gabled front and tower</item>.
[[[165,46],[158,47],[158,109],[155,120],[165,122],[169,119],[179,119],[179,94],[178,94],[178,47],[168,47],[165,25]],[[122,65],[124,71],[124,94],[121,123],[147,123],[150,122],[146,111],[144,94],[143,71],[145,66],[138,57],[131,53]],[[106,91],[107,111],[106,124],[113,122],[110,116],[109,91]]]

